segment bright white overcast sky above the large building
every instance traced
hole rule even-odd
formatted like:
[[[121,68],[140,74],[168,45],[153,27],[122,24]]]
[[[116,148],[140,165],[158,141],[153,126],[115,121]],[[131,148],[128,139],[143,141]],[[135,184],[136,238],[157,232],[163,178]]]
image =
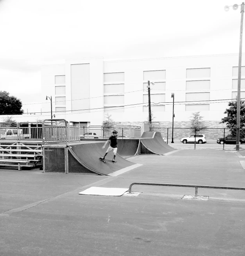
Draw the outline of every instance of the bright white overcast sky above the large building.
[[[241,2],[0,0],[0,90],[20,98],[25,113],[40,112],[32,103],[46,102],[43,64],[238,53],[240,6],[224,11],[233,4]]]

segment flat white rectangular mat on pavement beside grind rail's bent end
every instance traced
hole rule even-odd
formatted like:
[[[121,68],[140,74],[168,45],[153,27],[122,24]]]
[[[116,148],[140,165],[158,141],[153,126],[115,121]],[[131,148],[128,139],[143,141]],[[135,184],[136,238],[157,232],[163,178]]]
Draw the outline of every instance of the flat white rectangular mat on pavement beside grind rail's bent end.
[[[96,196],[122,196],[129,189],[121,189],[117,187],[90,187],[81,191],[81,195],[96,195]]]

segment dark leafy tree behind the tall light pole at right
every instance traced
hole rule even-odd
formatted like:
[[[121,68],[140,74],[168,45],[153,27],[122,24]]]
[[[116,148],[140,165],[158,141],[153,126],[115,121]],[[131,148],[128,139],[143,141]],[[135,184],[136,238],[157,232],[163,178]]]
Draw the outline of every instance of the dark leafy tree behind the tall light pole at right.
[[[232,136],[236,136],[236,111],[237,111],[237,100],[228,103],[229,108],[225,109],[224,114],[226,117],[221,119],[220,123],[226,123],[227,128],[230,129]],[[245,127],[245,102],[241,100],[240,110],[240,128]],[[245,136],[245,129],[240,130],[240,135]]]

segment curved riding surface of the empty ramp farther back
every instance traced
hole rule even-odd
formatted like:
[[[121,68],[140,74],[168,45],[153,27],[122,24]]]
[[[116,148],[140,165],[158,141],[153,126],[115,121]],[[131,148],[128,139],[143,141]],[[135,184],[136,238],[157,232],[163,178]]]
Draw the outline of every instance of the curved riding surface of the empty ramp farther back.
[[[154,133],[154,132],[147,132]],[[142,134],[143,135],[143,134]],[[150,134],[147,134],[150,136]],[[175,151],[172,147],[170,147],[162,138],[160,132],[155,132],[153,138],[141,138],[142,145],[151,153],[164,155],[166,153]]]

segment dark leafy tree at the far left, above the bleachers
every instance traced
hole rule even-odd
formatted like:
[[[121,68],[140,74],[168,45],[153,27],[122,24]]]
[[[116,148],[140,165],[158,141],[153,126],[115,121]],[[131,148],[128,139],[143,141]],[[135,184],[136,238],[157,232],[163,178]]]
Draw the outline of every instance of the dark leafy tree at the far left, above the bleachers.
[[[22,102],[6,91],[0,91],[0,114],[23,114]]]

